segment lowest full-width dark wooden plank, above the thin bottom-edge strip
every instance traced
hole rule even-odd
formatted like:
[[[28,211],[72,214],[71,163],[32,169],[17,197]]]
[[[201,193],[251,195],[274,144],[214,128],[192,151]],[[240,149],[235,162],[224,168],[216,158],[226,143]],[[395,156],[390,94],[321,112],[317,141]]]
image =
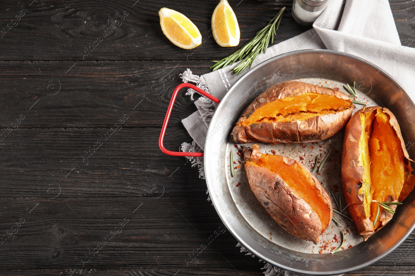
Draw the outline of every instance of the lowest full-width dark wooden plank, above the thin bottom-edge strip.
[[[260,271],[202,197],[1,199],[0,269]]]

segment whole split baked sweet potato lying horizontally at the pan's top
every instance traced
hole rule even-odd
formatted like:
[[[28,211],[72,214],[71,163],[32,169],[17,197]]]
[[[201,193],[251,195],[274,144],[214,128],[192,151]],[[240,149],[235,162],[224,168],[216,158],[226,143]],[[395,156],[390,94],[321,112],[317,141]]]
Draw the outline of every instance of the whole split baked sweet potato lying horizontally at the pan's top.
[[[235,143],[322,141],[352,116],[349,97],[305,82],[281,82],[259,95],[244,111],[231,137]]]

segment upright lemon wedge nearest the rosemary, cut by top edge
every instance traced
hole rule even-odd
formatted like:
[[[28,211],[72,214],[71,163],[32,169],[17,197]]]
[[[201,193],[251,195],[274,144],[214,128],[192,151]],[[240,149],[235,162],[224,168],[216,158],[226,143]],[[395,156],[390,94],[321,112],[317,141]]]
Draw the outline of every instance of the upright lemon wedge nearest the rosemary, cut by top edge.
[[[241,32],[238,20],[227,0],[221,0],[212,14],[212,33],[216,43],[222,47],[239,44]]]

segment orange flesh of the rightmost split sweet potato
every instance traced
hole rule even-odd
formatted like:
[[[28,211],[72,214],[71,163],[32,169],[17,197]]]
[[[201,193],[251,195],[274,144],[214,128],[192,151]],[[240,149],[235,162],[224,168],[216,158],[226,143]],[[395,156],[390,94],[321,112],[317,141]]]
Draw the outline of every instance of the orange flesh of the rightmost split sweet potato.
[[[403,154],[400,138],[391,125],[390,116],[381,109],[360,114],[363,132],[359,140],[359,164],[363,167],[363,183],[359,194],[364,195],[366,217],[375,221],[378,204],[403,200],[414,186],[412,168]],[[401,195],[402,193],[402,195]],[[382,209],[381,209],[382,211]],[[381,227],[380,219],[374,229]]]

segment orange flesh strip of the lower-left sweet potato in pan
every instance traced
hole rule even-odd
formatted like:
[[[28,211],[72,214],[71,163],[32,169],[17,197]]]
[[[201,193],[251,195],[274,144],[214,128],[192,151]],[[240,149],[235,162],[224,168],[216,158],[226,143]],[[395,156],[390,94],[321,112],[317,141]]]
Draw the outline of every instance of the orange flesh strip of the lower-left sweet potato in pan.
[[[256,162],[247,161],[246,165],[249,164],[265,167],[278,174],[298,197],[311,206],[319,216],[324,229],[327,228],[331,221],[330,210],[327,208],[327,202],[314,187],[309,170],[298,164],[290,166],[283,161],[283,156],[279,155],[262,154]]]

